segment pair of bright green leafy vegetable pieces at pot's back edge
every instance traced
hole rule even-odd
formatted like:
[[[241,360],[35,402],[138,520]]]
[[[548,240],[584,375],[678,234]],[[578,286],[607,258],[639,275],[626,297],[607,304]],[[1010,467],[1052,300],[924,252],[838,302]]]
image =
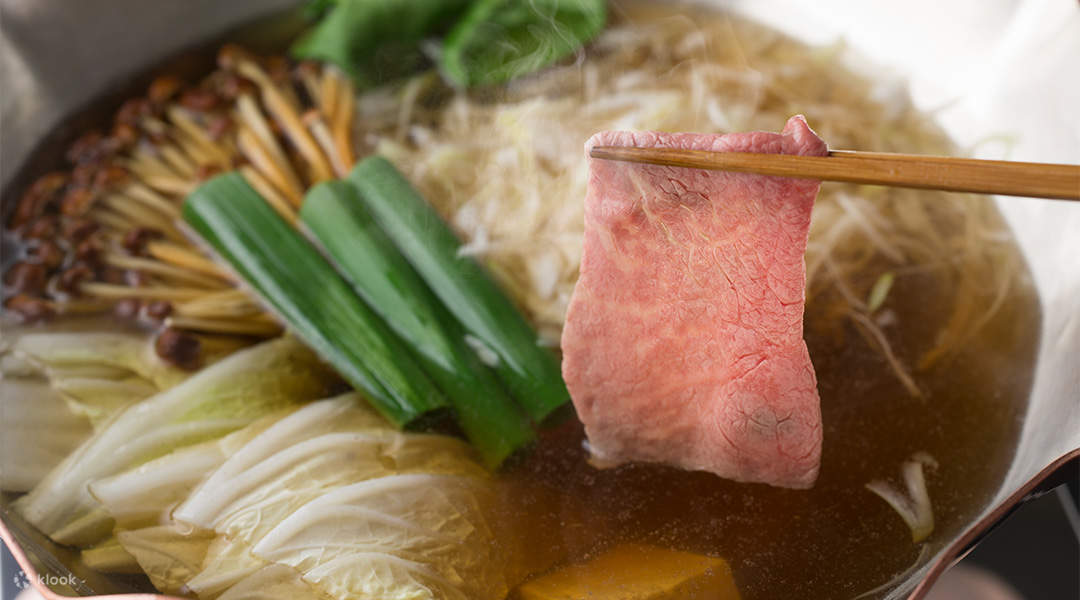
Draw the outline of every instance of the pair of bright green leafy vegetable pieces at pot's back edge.
[[[448,29],[438,60],[461,87],[492,85],[542,69],[604,28],[605,0],[315,0],[319,25],[293,46],[372,86],[427,64],[421,42]]]

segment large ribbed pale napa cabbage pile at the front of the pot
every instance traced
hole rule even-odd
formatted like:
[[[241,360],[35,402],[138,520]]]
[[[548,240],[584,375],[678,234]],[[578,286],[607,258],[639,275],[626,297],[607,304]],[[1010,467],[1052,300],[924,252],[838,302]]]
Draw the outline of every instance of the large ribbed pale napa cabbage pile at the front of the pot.
[[[168,594],[497,600],[510,587],[490,524],[496,482],[474,451],[400,432],[356,393],[275,412],[91,491],[134,528],[118,532],[120,545]]]

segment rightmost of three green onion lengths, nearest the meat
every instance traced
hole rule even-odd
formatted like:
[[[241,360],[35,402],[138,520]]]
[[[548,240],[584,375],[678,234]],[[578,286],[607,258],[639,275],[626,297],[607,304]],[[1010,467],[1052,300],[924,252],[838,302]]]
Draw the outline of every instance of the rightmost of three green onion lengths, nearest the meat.
[[[397,249],[464,326],[467,342],[486,358],[534,421],[570,396],[558,362],[481,265],[459,253],[460,242],[386,159],[359,163],[348,180]]]

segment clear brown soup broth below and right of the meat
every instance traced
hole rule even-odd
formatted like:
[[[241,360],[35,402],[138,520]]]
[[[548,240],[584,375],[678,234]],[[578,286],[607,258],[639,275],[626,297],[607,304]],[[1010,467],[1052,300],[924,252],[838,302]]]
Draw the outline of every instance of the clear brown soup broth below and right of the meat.
[[[907,362],[913,357],[904,349],[934,335],[941,324],[933,317],[942,314],[935,305],[950,300],[934,284],[897,278],[887,302],[904,324],[890,335]],[[573,562],[638,541],[725,558],[745,600],[853,597],[919,556],[900,516],[864,487],[886,479],[904,489],[900,465],[918,451],[940,464],[927,472],[936,519],[930,550],[957,535],[996,492],[1018,438],[1039,330],[1034,290],[1014,286],[966,350],[917,373],[921,398],[900,384],[852,325],[840,337],[815,332],[812,324],[824,318],[816,306],[807,306],[807,344],[818,372],[824,449],[812,489],[647,464],[599,471],[588,464],[582,427],[572,421],[548,432],[507,476],[517,518],[540,535],[526,541],[537,560],[550,560],[553,551]]]

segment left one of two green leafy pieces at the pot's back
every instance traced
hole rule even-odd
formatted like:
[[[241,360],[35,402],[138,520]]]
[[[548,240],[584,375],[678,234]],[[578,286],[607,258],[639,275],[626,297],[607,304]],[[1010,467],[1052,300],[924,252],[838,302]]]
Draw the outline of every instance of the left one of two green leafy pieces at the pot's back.
[[[360,86],[416,71],[420,42],[453,23],[469,0],[337,0],[318,2],[322,22],[293,46],[298,58],[333,63]]]

